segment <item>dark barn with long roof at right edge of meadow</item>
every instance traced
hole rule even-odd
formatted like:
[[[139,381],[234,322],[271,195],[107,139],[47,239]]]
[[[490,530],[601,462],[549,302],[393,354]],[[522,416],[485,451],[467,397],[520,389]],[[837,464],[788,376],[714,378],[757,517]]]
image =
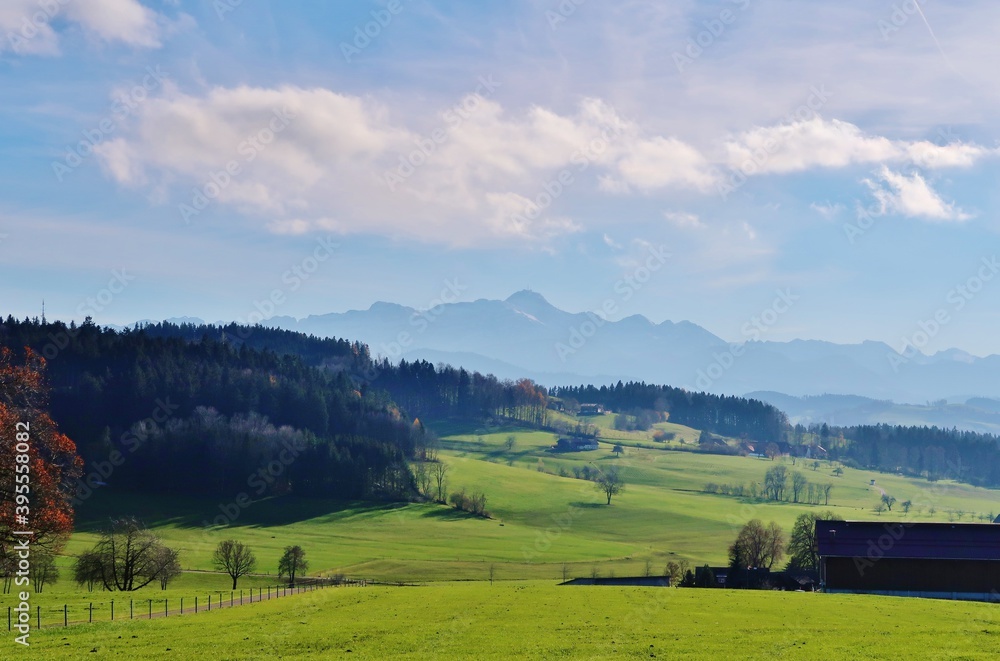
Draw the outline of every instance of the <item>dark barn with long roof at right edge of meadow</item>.
[[[826,592],[1000,601],[1000,526],[817,521]]]

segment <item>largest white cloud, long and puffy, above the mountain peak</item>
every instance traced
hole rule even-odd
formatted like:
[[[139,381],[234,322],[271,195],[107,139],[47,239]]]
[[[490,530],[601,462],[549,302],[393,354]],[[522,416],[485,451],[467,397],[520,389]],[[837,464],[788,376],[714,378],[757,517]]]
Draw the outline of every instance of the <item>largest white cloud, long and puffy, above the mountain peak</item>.
[[[573,114],[510,113],[482,97],[466,108],[418,133],[372,99],[326,89],[216,88],[196,97],[168,88],[95,151],[123,185],[170,184],[184,204],[195,186],[272,231],[452,245],[530,244],[579,231],[559,209],[564,196],[591,186],[590,173],[643,190],[704,182],[704,159],[693,148],[645,137],[597,100]],[[255,144],[253,136],[263,142],[284,114],[288,126]],[[227,163],[239,172],[216,190],[213,177]]]

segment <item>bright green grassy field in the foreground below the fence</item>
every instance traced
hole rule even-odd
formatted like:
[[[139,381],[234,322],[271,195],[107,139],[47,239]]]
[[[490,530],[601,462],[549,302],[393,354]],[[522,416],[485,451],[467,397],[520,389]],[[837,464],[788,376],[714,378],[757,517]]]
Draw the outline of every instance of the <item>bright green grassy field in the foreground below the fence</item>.
[[[816,593],[440,583],[43,629],[33,658],[991,659],[995,605]],[[14,647],[13,640],[3,641]],[[12,658],[13,652],[5,652]]]

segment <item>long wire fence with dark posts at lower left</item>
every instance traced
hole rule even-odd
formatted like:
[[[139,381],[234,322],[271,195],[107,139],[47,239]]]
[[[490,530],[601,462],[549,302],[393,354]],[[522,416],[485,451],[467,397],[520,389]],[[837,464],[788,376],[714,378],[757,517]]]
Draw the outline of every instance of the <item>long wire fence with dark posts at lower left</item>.
[[[91,624],[94,622],[114,622],[118,620],[152,620],[158,617],[170,617],[172,615],[195,615],[198,613],[208,613],[222,608],[236,608],[249,604],[270,601],[271,599],[282,599],[285,597],[313,592],[328,587],[366,587],[370,585],[367,580],[344,579],[340,581],[324,581],[320,579],[306,579],[295,587],[284,585],[274,585],[259,588],[245,588],[242,590],[229,590],[227,596],[224,591],[212,591],[205,595],[195,595],[193,597],[179,597],[175,599],[129,599],[127,602],[122,599],[116,601],[112,599],[107,605],[94,607],[93,602],[87,606],[74,606],[70,608],[68,604],[63,604],[62,608],[45,608],[35,606],[35,612],[30,615],[35,620],[35,629],[43,626],[68,627],[75,624]],[[12,631],[18,617],[23,617],[22,613],[15,612],[11,606],[7,607],[7,631]]]

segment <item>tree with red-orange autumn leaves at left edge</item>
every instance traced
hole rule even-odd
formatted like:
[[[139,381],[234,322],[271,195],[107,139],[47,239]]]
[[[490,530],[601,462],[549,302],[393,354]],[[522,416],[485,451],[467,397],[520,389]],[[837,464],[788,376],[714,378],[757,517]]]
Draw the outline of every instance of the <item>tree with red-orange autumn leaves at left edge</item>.
[[[30,349],[19,361],[10,349],[0,348],[0,558],[12,552],[18,540],[14,531],[33,532],[31,546],[52,554],[73,529],[72,485],[83,461],[46,411],[44,371],[45,359]],[[21,464],[30,467],[27,471],[17,468],[19,442],[28,446],[28,463]],[[15,508],[18,493],[26,491],[25,524],[15,518],[23,510]]]

